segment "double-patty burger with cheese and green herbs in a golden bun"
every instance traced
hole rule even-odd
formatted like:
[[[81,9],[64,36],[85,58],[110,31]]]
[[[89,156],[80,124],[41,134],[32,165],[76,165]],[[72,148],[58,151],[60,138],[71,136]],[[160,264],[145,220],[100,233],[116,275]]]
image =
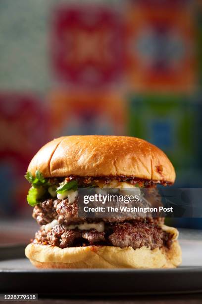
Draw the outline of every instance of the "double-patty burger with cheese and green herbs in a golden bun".
[[[178,231],[163,218],[83,218],[80,188],[172,185],[167,156],[142,139],[66,136],[31,160],[28,203],[40,228],[25,254],[38,268],[174,268],[181,263]]]

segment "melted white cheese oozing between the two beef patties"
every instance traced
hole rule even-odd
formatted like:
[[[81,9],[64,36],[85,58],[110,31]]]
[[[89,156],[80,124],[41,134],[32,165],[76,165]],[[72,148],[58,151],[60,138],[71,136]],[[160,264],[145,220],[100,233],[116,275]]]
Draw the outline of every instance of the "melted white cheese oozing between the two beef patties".
[[[45,229],[46,232],[51,230],[54,226],[59,225],[57,220],[53,220],[51,223],[47,225],[43,225],[42,229]],[[77,224],[77,225],[69,225],[65,226],[68,230],[73,230],[78,228],[79,230],[90,230],[90,229],[96,229],[98,232],[103,232],[104,231],[104,223],[86,223],[84,222],[83,224]]]

